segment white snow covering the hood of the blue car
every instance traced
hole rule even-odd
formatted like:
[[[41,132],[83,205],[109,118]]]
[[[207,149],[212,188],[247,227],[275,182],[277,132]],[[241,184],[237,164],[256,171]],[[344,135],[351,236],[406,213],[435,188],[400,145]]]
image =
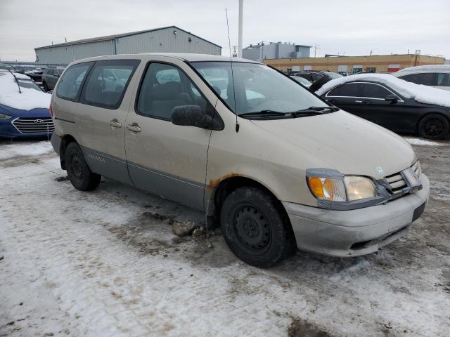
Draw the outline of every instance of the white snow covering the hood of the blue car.
[[[18,79],[30,79],[23,74],[14,73]],[[36,107],[48,108],[51,95],[32,88],[20,87],[10,72],[0,71],[0,104],[20,110],[32,110]]]

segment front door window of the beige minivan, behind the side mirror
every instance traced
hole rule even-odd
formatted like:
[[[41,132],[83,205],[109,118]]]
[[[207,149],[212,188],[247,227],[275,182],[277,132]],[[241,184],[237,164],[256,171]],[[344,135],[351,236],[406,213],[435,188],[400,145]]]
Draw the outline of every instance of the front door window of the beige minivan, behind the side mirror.
[[[182,70],[165,63],[150,63],[141,83],[136,112],[170,120],[174,107],[182,105],[198,105],[209,113],[206,98]]]

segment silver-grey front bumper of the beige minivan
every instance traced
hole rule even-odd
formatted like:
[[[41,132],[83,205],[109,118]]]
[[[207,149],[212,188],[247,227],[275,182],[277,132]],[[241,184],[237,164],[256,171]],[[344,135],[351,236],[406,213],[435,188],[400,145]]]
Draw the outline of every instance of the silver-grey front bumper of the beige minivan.
[[[351,211],[332,211],[283,201],[298,249],[341,257],[378,251],[406,234],[425,209],[430,181],[424,174],[420,180],[423,188],[414,194]]]

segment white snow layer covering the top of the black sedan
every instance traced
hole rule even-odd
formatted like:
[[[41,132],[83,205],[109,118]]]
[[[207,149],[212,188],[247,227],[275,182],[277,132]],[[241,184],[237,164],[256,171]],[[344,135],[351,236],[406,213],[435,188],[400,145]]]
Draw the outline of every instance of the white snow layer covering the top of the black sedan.
[[[319,90],[316,91],[316,94],[323,95],[336,86],[354,81],[374,81],[377,83],[386,84],[388,87],[404,96],[404,98],[411,98],[419,103],[450,107],[449,91],[433,88],[432,86],[423,86],[422,84],[407,82],[403,79],[397,79],[397,77],[393,77],[390,74],[356,74],[347,77],[340,77],[338,79],[332,79],[319,88]]]

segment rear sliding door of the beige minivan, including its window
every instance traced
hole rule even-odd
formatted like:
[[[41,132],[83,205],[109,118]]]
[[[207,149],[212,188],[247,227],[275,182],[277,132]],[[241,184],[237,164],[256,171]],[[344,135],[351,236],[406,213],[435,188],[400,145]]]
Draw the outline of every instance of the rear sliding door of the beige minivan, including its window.
[[[97,61],[80,95],[79,113],[89,118],[91,136],[83,145],[92,171],[131,184],[124,146],[131,93],[127,86],[139,60]],[[125,95],[127,93],[127,95]]]

